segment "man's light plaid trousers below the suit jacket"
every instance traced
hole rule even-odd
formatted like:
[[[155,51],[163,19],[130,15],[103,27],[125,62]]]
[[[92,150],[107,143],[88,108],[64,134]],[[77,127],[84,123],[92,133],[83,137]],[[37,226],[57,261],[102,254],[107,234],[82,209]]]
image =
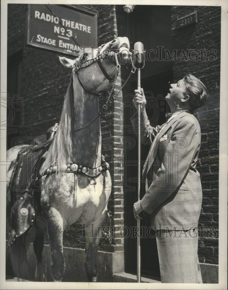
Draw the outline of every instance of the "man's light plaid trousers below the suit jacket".
[[[198,231],[156,231],[162,283],[202,283]]]

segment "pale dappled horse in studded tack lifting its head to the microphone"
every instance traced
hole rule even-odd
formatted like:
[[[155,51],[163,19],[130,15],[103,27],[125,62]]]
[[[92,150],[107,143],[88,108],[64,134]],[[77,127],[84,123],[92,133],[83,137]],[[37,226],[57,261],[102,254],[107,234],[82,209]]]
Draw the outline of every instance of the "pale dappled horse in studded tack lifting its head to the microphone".
[[[40,207],[36,216],[33,249],[36,256],[35,280],[44,281],[42,270],[42,250],[44,232],[48,233],[51,277],[61,282],[65,271],[63,255],[63,232],[73,223],[85,226],[85,270],[89,282],[97,281],[97,251],[100,229],[107,224],[107,203],[111,193],[111,176],[101,167],[101,128],[99,114],[107,109],[110,95],[99,110],[99,96],[111,89],[120,65],[125,65],[130,57],[127,37],[117,37],[99,48],[87,47],[74,60],[59,57],[62,65],[73,69],[70,84],[64,97],[58,130],[48,148],[46,159],[39,170]],[[107,53],[108,52],[108,53]],[[103,57],[100,57],[103,55]],[[112,56],[107,57],[105,56]],[[122,56],[122,57],[121,57]],[[114,81],[114,83],[113,83]],[[7,152],[10,162],[7,171],[7,200],[10,202],[10,178],[19,149],[12,147]],[[50,168],[55,174],[46,174]],[[88,177],[86,171],[95,170],[96,176]],[[97,170],[98,168],[98,170]],[[54,170],[55,169],[55,170]],[[82,174],[84,169],[84,173]],[[101,170],[100,170],[101,169]],[[67,172],[69,171],[69,172]],[[75,171],[81,171],[76,173]],[[35,194],[35,193],[34,193]],[[93,235],[88,231],[94,224]],[[19,236],[11,249],[11,263],[17,277],[24,274],[23,260],[26,249],[22,249]],[[26,247],[26,244],[24,244]]]

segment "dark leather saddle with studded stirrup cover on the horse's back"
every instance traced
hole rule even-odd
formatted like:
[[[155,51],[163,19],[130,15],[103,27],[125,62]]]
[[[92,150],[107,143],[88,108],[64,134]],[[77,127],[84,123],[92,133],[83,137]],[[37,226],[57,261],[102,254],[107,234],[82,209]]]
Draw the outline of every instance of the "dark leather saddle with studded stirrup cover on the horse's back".
[[[8,247],[26,231],[30,231],[35,221],[35,212],[40,211],[40,187],[37,186],[37,175],[45,160],[45,152],[50,147],[57,131],[58,123],[48,129],[46,140],[42,135],[31,145],[21,148],[15,161],[10,184],[10,233]],[[36,192],[35,199],[33,194]],[[35,210],[35,209],[36,210]]]

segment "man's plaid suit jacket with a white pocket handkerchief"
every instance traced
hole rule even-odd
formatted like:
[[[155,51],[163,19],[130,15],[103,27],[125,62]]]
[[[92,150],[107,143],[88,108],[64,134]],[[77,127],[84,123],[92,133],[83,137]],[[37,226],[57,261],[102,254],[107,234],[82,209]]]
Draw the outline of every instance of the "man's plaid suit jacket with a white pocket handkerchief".
[[[197,119],[182,111],[168,124],[152,127],[145,122],[141,130],[141,142],[152,144],[143,167],[141,200],[143,210],[151,214],[151,225],[170,230],[197,227],[202,205]]]

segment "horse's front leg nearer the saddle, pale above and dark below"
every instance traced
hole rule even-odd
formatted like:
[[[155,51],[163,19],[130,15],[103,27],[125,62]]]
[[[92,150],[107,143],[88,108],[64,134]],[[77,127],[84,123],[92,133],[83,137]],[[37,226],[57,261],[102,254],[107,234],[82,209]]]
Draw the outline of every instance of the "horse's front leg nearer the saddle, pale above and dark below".
[[[54,282],[61,282],[65,271],[65,260],[63,256],[62,235],[64,231],[64,220],[60,213],[51,208],[48,212],[47,231],[51,251],[51,276]]]

